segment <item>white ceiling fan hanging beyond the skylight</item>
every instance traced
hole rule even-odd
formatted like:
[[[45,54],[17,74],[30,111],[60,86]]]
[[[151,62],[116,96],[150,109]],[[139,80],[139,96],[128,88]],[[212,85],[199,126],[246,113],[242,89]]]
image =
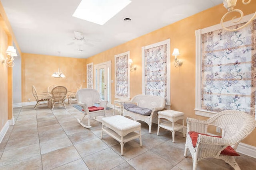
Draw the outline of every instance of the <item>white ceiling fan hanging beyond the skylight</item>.
[[[82,51],[81,46],[83,45],[93,47],[94,45],[92,43],[89,43],[89,41],[98,41],[87,39],[81,32],[78,31],[74,31],[74,37],[72,40],[73,41],[71,43],[68,43],[67,45],[78,45],[79,51]]]

